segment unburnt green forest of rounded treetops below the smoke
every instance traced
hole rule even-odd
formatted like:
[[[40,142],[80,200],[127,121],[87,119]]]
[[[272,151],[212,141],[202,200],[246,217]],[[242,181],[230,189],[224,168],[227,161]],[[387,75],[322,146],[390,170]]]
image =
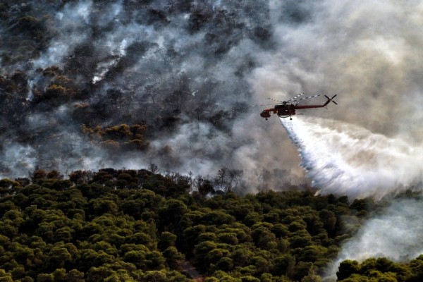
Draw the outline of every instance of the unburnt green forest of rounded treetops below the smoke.
[[[384,205],[292,187],[237,195],[157,168],[37,169],[0,189],[0,281],[322,281]],[[346,260],[337,276],[422,281],[423,255]]]

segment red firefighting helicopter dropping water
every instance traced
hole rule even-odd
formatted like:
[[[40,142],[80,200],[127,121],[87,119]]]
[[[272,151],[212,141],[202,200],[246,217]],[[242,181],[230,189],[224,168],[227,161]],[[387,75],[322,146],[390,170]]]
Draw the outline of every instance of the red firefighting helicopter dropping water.
[[[293,119],[292,116],[295,115],[295,110],[323,108],[323,107],[327,106],[327,104],[329,104],[330,102],[333,102],[336,105],[338,104],[335,101],[333,101],[333,98],[335,98],[336,95],[337,95],[337,94],[335,94],[332,98],[329,98],[326,95],[324,95],[324,97],[327,98],[327,101],[324,104],[300,106],[300,105],[298,105],[298,104],[300,104],[300,101],[305,100],[305,99],[314,98],[314,97],[319,97],[321,95],[321,94],[317,94],[317,95],[310,96],[310,97],[300,98],[303,94],[304,93],[298,94],[297,96],[295,96],[295,97],[293,97],[293,98],[291,98],[287,101],[280,101],[278,99],[269,98],[269,99],[276,101],[278,103],[258,105],[258,106],[275,105],[273,108],[264,109],[262,111],[262,113],[260,113],[260,116],[262,116],[262,118],[266,118],[266,121],[267,121],[267,119],[270,118],[270,113],[273,113],[273,114],[277,114],[281,118],[290,118],[292,120]],[[300,98],[300,99],[298,99],[298,98]],[[282,103],[282,104],[280,104],[280,103]]]

